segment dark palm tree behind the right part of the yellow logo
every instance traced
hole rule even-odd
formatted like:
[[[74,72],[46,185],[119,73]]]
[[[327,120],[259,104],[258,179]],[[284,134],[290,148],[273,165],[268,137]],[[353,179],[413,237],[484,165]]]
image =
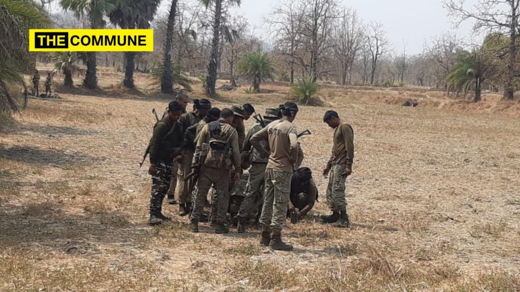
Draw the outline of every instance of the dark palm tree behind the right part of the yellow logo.
[[[110,22],[121,29],[148,29],[160,0],[128,0],[110,12]],[[125,87],[134,88],[135,52],[125,52]]]

